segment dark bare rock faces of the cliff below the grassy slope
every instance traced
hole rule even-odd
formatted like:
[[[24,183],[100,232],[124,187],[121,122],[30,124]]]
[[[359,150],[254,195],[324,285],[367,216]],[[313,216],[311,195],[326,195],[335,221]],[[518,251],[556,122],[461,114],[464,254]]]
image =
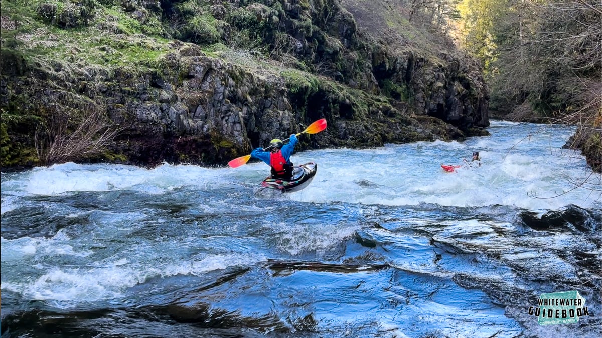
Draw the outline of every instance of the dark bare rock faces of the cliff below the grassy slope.
[[[136,5],[128,4],[135,11]],[[451,53],[441,51],[443,62],[432,61],[364,39],[353,16],[333,0],[235,5],[258,20],[277,17],[278,25],[267,25],[275,30],[267,31],[265,43],[277,51],[276,43],[284,36],[279,34],[293,36],[287,50],[303,64],[292,73],[286,73],[290,66],[254,70],[179,40],[170,42],[169,52],[146,72],[85,63],[27,64],[18,52],[3,49],[2,109],[43,119],[53,111],[75,112],[93,102],[119,126],[110,153],[120,156],[100,155],[90,161],[137,165],[225,164],[322,117],[328,129],[304,136],[300,149],[486,133],[486,85],[476,67]],[[217,16],[226,15],[219,4],[212,8]],[[152,11],[165,13],[166,8]],[[27,133],[14,123],[7,130],[10,142],[19,140],[30,155],[35,118],[32,123]]]

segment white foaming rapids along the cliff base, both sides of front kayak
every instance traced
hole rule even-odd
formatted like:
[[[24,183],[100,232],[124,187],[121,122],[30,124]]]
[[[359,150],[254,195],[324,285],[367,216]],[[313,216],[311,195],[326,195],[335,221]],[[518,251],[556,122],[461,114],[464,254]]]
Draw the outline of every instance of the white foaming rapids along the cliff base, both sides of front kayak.
[[[524,135],[512,134],[509,128],[522,128]],[[463,143],[435,141],[296,153],[294,163],[315,161],[318,173],[308,188],[284,198],[397,206],[499,204],[530,210],[600,205],[600,174],[592,174],[579,151],[561,149],[571,134],[569,128],[494,121],[489,130],[491,137]],[[441,169],[441,164],[470,160],[473,151],[479,151],[482,167],[462,168],[457,173]],[[2,180],[6,194],[2,213],[18,205],[19,195],[119,190],[169,194],[182,187],[208,191],[233,184],[251,186],[267,173],[262,162],[240,168],[164,164],[152,170],[125,165],[53,165]],[[582,182],[586,182],[583,188],[574,189]]]

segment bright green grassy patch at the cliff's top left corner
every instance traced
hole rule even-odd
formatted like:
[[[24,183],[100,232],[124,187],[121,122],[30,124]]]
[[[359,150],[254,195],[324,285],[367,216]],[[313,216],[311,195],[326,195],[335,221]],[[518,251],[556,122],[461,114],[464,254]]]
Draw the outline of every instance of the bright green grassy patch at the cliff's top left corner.
[[[43,4],[56,6],[52,19],[40,14]],[[58,0],[2,2],[2,45],[19,51],[32,64],[55,61],[140,69],[157,66],[157,58],[170,49],[170,40],[160,37],[162,30],[157,20],[151,16],[143,25],[120,6],[96,4],[86,24],[78,24],[76,19],[82,18],[73,14],[75,22],[67,19],[67,24],[76,26],[61,27],[55,20],[60,20],[60,11],[71,5]]]

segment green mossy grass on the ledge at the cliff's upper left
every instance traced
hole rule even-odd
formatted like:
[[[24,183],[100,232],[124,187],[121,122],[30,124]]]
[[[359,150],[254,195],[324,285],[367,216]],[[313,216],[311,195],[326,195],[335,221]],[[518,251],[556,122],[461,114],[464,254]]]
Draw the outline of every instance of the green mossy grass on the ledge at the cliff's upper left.
[[[12,4],[7,3],[8,8],[11,8]],[[4,10],[4,4],[2,5]],[[106,21],[107,17],[116,21]],[[51,63],[51,60],[57,60],[65,64],[73,64],[85,61],[103,67],[155,67],[157,58],[170,49],[167,45],[168,40],[132,36],[140,33],[164,35],[163,25],[155,16],[147,17],[146,24],[142,25],[120,7],[114,6],[100,8],[98,18],[96,23],[105,23],[105,26],[113,25],[117,31],[128,35],[116,37],[106,32],[99,32],[95,26],[71,29],[61,29],[52,25],[39,26],[34,25],[36,21],[30,18],[28,25],[25,23],[19,25],[19,29],[24,29],[28,34],[26,42],[14,38],[19,29],[12,31],[2,29],[0,32],[2,46],[14,49],[13,54],[19,53],[27,63],[37,61],[40,64],[47,64]],[[4,50],[2,54],[4,56]]]

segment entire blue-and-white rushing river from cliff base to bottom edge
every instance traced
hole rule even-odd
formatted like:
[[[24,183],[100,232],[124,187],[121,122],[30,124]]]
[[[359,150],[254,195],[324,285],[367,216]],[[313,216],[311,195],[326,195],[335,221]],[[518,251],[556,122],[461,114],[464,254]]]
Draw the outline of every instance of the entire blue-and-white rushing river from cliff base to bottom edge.
[[[489,132],[295,153],[290,194],[257,161],[2,173],[2,337],[598,337],[600,174],[566,126]],[[577,324],[529,315],[571,290]]]

